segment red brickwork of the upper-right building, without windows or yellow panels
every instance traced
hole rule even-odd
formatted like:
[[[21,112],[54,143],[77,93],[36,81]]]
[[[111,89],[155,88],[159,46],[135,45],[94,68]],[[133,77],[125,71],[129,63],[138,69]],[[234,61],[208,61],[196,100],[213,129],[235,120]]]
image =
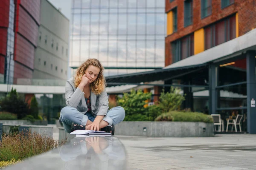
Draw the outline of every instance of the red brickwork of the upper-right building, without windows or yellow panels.
[[[234,3],[221,8],[221,0],[212,0],[212,13],[201,18],[201,0],[193,0],[193,23],[184,27],[184,0],[166,0],[166,13],[177,7],[177,31],[166,37],[166,65],[172,63],[172,53],[170,43],[178,40],[188,34],[197,31],[200,28],[209,26],[223,18],[238,13],[239,18],[239,36],[247,33],[252,28],[256,28],[256,10],[255,0],[234,0]],[[230,26],[236,24],[235,17],[230,19]],[[219,27],[222,29],[221,27]],[[209,30],[208,30],[209,31]],[[221,30],[222,31],[222,30]],[[235,36],[235,31],[231,30],[230,39]],[[223,40],[219,40],[221,42]],[[207,42],[209,43],[209,42]],[[209,44],[207,45],[209,46]],[[209,47],[208,47],[209,48]]]

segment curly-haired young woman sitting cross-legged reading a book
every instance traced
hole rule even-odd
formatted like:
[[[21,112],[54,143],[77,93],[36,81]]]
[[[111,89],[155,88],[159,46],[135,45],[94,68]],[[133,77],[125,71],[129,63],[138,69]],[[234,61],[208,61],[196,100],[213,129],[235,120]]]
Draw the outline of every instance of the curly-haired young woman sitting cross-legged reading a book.
[[[66,82],[67,106],[61,110],[59,122],[67,133],[74,130],[102,130],[114,135],[114,125],[125,118],[122,107],[108,110],[103,67],[98,59],[87,59],[73,78]]]

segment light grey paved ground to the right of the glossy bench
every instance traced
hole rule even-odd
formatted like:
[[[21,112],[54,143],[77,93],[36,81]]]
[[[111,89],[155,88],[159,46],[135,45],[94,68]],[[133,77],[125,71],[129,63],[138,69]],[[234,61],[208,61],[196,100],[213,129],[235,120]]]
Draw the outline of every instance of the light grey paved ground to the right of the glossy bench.
[[[128,170],[256,170],[256,135],[117,137],[125,145]]]

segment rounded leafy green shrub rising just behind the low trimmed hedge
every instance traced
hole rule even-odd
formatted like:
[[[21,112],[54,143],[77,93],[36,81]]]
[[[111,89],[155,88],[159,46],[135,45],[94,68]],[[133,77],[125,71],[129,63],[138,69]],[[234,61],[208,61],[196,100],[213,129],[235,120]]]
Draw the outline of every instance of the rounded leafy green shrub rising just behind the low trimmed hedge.
[[[185,96],[180,94],[180,89],[171,87],[170,92],[164,93],[163,91],[159,99],[159,107],[163,113],[166,113],[169,111],[178,110],[182,102],[185,100]]]

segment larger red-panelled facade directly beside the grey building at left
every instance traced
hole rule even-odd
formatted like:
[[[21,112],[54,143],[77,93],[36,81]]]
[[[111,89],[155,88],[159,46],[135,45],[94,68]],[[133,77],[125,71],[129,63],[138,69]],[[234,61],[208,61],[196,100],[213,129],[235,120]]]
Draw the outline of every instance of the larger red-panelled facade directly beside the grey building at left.
[[[17,78],[32,78],[40,19],[40,0],[17,0],[15,6],[15,68]]]

